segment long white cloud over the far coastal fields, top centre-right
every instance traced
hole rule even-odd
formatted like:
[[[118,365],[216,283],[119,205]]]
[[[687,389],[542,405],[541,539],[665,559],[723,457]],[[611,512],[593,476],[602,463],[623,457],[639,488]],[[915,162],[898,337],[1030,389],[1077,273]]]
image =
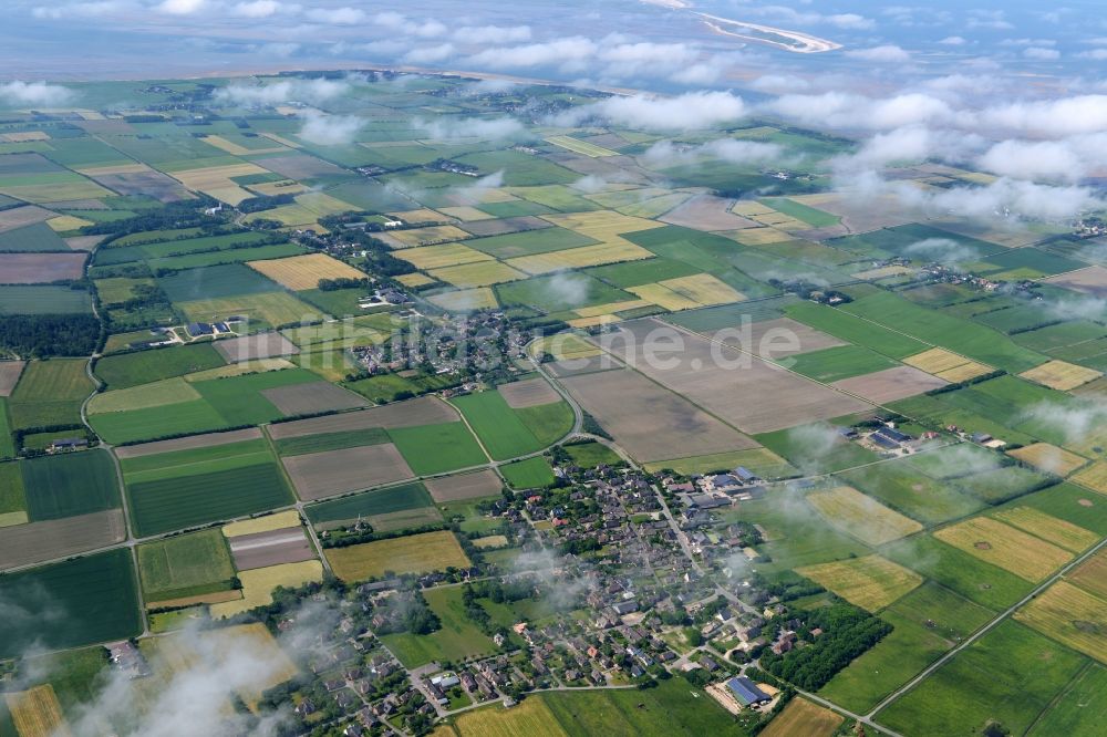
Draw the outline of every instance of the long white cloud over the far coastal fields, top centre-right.
[[[602,117],[615,125],[651,131],[694,131],[737,121],[746,114],[742,97],[730,92],[689,92],[674,97],[614,96],[568,111],[572,124]]]

